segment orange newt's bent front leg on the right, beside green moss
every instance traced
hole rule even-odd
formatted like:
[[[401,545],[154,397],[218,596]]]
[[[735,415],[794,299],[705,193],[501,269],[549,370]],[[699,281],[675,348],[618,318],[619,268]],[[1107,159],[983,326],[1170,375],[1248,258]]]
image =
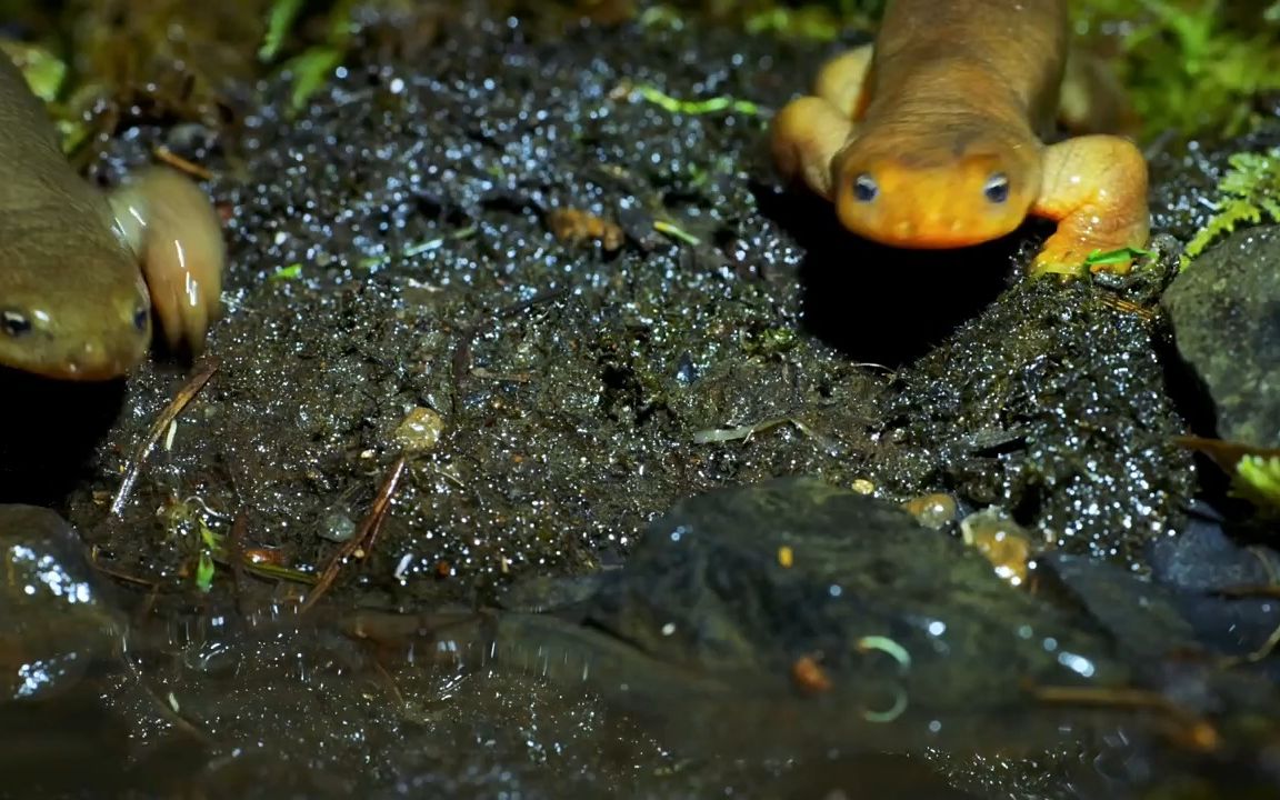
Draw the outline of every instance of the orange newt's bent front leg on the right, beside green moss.
[[[1032,275],[1079,274],[1094,252],[1140,250],[1151,234],[1147,161],[1129,140],[1082,136],[1044,148],[1043,179],[1032,214],[1057,221],[1032,262]],[[1094,271],[1124,274],[1124,259]]]

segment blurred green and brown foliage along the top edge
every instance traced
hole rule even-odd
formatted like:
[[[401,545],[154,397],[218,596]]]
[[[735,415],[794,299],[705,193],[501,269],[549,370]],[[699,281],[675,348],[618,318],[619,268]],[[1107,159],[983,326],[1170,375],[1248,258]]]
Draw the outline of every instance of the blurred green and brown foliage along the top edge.
[[[884,3],[0,0],[0,19],[5,46],[74,150],[137,120],[230,124],[271,70],[287,73],[293,102],[305,104],[356,42],[372,49],[365,59],[406,55],[468,14],[518,14],[550,35],[585,20],[709,24],[831,47],[873,31]],[[1076,0],[1071,12],[1078,45],[1112,64],[1146,140],[1231,137],[1280,109],[1280,0]]]

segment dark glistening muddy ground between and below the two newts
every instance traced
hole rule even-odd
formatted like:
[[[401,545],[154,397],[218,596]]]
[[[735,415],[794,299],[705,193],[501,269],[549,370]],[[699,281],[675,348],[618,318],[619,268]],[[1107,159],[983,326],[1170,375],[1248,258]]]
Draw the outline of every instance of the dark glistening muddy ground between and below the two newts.
[[[134,600],[271,609],[252,620],[287,616],[308,586],[219,562],[211,593],[195,591],[197,522],[229,539],[239,521],[238,547],[314,575],[402,453],[371,556],[328,595],[338,608],[471,607],[513,579],[613,567],[676,500],[778,475],[1000,504],[1062,552],[1138,572],[1144,547],[1183,524],[1198,470],[1170,438],[1196,407],[1155,308],[1166,269],[1119,287],[1030,284],[1020,270],[1043,225],[972,251],[892,251],[778,183],[772,111],[856,35],[818,46],[631,24],[544,38],[515,19],[471,22],[412,58],[357,49],[296,118],[276,79],[239,128],[147,127],[113,143],[93,165],[104,183],[157,141],[215,173],[229,307],[193,367],[215,371],[119,516],[109,506],[122,475],[193,369],[157,358],[125,387],[15,378],[38,424],[10,439],[5,499],[64,511]],[[758,109],[672,111],[643,87]],[[1187,236],[1202,214],[1187,192],[1210,186],[1217,161],[1193,156],[1157,161],[1161,233]],[[558,237],[558,210],[617,224],[621,246]],[[397,429],[415,410],[440,435],[406,449]],[[762,422],[777,424],[746,435]],[[212,649],[229,625],[216,620],[196,625]],[[189,644],[192,623],[172,625]],[[586,792],[626,780],[654,796],[750,796],[762,773],[782,776],[773,796],[824,786],[792,783],[785,765],[690,776],[660,742],[609,731],[584,699],[553,698],[554,723],[539,728],[547,690],[526,684],[451,695],[428,680],[410,719],[342,686],[339,657],[320,659],[314,684],[291,646],[347,645],[308,630],[225,645],[247,655],[218,699],[239,708],[219,707],[220,732],[252,739],[275,724],[276,705],[255,700],[270,691],[296,712],[291,739],[321,742],[287,758],[264,748],[270,769],[248,759],[232,773],[303,794],[342,774],[326,786],[334,796],[389,794],[410,774],[453,791],[566,790],[529,778],[531,764],[577,776]],[[470,751],[486,726],[492,758]],[[443,753],[419,749],[428,728],[428,741],[449,742]],[[461,753],[466,765],[440,777],[435,759]],[[886,763],[858,769],[913,774]],[[220,778],[237,785],[227,769]]]

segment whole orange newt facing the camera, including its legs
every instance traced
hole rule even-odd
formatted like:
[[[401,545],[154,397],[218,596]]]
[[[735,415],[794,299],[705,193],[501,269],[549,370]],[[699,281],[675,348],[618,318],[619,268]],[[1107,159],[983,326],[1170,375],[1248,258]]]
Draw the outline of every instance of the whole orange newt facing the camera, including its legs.
[[[1080,274],[1096,251],[1143,248],[1138,147],[1102,133],[1043,142],[1059,116],[1088,128],[1085,113],[1060,110],[1069,35],[1065,0],[891,0],[873,45],[828,61],[813,95],[778,111],[778,170],[883,244],[965,247],[1039,216],[1057,230],[1032,274]],[[1115,108],[1103,114],[1120,127]]]

